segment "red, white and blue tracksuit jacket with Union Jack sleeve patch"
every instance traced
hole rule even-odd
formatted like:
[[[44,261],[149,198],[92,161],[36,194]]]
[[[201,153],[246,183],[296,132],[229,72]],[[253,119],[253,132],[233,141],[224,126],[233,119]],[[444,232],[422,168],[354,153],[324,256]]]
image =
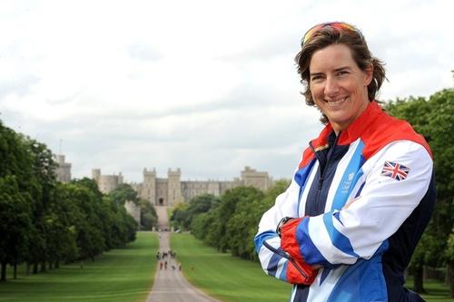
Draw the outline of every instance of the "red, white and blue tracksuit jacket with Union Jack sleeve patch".
[[[347,130],[336,136],[328,124],[310,142],[255,248],[268,275],[293,284],[292,302],[422,301],[403,271],[434,202],[429,145],[370,102]],[[284,217],[297,219],[280,238]]]

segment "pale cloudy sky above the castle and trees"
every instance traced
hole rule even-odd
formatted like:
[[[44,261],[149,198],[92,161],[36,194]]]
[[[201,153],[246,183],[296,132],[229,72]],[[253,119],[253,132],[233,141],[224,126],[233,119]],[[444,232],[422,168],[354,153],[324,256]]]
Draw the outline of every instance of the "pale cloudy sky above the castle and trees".
[[[293,61],[314,24],[345,21],[386,63],[381,101],[453,87],[454,2],[0,0],[0,120],[74,178],[143,168],[290,179],[320,113]]]

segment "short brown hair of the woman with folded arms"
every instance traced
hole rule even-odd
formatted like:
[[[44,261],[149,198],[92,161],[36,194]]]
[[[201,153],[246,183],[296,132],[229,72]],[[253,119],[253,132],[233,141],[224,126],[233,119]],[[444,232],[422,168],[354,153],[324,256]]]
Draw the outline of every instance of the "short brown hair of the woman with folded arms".
[[[352,28],[355,28],[351,26]],[[372,56],[364,36],[358,29],[347,30],[338,29],[327,24],[311,35],[306,42],[301,41],[301,52],[295,57],[295,62],[298,64],[298,73],[301,75],[301,83],[305,86],[305,91],[301,94],[306,98],[306,104],[315,106],[312,99],[309,65],[311,63],[312,54],[316,51],[330,46],[331,44],[345,44],[351,50],[353,60],[358,64],[360,70],[366,69],[372,64],[373,74],[372,81],[368,86],[369,101],[373,101],[380,90],[381,83],[386,79],[384,63],[378,58]],[[327,123],[327,116],[321,112],[321,122]]]

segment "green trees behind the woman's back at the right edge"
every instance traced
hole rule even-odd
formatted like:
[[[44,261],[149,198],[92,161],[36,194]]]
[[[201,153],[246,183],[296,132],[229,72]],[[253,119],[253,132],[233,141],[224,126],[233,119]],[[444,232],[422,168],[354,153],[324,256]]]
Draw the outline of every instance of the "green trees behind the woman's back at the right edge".
[[[445,89],[425,98],[397,100],[386,104],[390,114],[404,119],[421,133],[429,142],[433,152],[434,170],[437,181],[437,201],[432,219],[423,234],[419,248],[410,263],[415,272],[415,290],[423,292],[422,266],[446,264],[448,272],[454,271],[449,262],[449,236],[454,225],[454,89]],[[437,257],[441,255],[442,257]],[[449,279],[451,293],[454,279]]]

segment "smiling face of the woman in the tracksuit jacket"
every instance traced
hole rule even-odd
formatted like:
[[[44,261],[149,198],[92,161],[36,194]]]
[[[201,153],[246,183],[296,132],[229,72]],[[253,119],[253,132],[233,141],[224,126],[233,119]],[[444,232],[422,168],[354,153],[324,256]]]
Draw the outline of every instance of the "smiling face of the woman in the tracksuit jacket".
[[[335,132],[350,126],[369,104],[367,86],[372,66],[365,72],[345,44],[331,44],[312,54],[309,65],[312,98]]]

